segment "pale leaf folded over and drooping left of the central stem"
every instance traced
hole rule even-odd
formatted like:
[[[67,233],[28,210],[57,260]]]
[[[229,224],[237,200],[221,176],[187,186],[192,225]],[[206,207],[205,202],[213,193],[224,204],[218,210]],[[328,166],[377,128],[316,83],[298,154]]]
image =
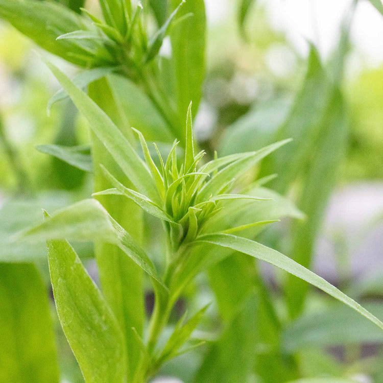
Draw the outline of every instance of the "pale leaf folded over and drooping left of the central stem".
[[[50,240],[105,241],[117,245],[142,270],[163,285],[146,253],[96,200],[83,200],[59,210],[51,218],[18,234],[30,242]]]

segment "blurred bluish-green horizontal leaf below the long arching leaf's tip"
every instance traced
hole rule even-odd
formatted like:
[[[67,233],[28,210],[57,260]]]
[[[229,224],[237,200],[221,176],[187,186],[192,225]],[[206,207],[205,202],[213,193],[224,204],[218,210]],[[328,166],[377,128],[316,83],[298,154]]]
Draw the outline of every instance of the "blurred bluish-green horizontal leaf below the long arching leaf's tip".
[[[366,303],[365,307],[376,316],[383,317],[382,304]],[[310,347],[382,341],[383,334],[376,326],[340,306],[300,317],[289,324],[283,333],[282,347],[286,352],[295,352]]]

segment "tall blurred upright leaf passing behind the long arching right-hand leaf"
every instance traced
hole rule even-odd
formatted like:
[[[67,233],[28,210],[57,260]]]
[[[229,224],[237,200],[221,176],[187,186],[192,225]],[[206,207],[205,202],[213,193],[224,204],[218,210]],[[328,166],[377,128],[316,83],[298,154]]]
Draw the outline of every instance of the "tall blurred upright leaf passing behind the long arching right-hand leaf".
[[[322,117],[321,130],[309,160],[309,171],[304,176],[304,187],[297,205],[306,214],[306,222],[294,223],[292,257],[305,267],[311,263],[314,243],[322,217],[337,180],[337,170],[345,155],[347,119],[343,97],[334,89]],[[336,148],[336,150],[334,150]],[[297,316],[303,307],[307,285],[288,277],[286,295],[290,314]]]

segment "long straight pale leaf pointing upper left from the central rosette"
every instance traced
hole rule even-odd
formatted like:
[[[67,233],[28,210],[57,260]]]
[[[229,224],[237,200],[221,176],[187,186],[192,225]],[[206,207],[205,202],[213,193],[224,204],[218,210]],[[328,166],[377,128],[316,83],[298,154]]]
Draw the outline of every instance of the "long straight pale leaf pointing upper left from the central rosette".
[[[138,191],[158,202],[159,194],[148,167],[142,162],[123,133],[114,125],[108,115],[55,65],[46,60],[45,63],[87,119],[90,129],[105,145]]]

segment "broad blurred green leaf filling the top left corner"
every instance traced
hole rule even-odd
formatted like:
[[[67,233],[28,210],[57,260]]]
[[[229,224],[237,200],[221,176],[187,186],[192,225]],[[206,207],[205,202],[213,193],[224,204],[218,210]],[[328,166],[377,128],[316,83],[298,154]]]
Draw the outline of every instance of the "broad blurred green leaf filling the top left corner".
[[[43,49],[69,62],[80,66],[105,64],[103,58],[89,55],[75,41],[56,41],[60,35],[86,29],[87,26],[84,18],[61,4],[36,0],[0,0],[0,16]]]

